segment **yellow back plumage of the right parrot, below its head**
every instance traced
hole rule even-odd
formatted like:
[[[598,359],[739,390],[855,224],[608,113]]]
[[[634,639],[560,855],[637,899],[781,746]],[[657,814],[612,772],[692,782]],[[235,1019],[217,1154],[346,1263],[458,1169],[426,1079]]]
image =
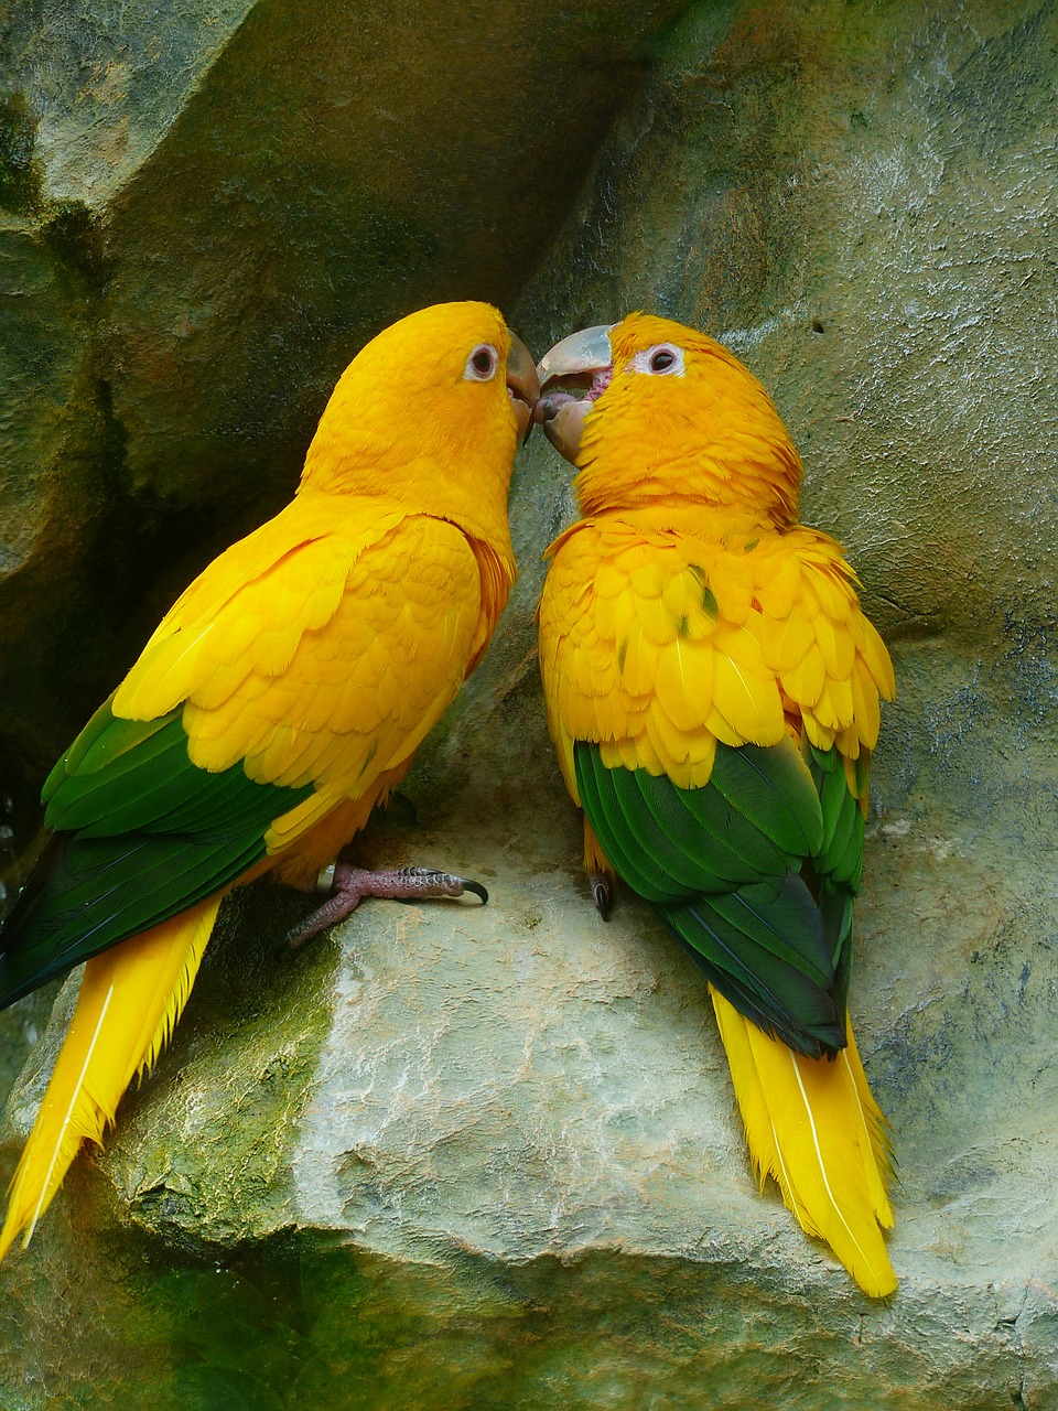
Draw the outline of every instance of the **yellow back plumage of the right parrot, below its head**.
[[[893,669],[839,546],[803,526],[722,533],[697,507],[681,507],[679,531],[656,523],[650,508],[584,519],[547,550],[545,704],[574,799],[573,739],[605,742],[608,762],[625,749],[684,787],[708,783],[703,739],[774,745],[790,706],[821,748],[841,732],[851,758],[873,749]]]

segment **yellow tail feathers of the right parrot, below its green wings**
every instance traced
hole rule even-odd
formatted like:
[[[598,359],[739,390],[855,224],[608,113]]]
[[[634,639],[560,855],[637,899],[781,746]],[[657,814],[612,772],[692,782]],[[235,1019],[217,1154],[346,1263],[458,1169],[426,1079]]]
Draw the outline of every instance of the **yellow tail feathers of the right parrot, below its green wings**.
[[[808,1235],[827,1240],[865,1294],[896,1290],[882,1228],[893,1223],[884,1118],[848,1026],[835,1060],[805,1058],[711,989],[753,1170],[772,1175]]]

